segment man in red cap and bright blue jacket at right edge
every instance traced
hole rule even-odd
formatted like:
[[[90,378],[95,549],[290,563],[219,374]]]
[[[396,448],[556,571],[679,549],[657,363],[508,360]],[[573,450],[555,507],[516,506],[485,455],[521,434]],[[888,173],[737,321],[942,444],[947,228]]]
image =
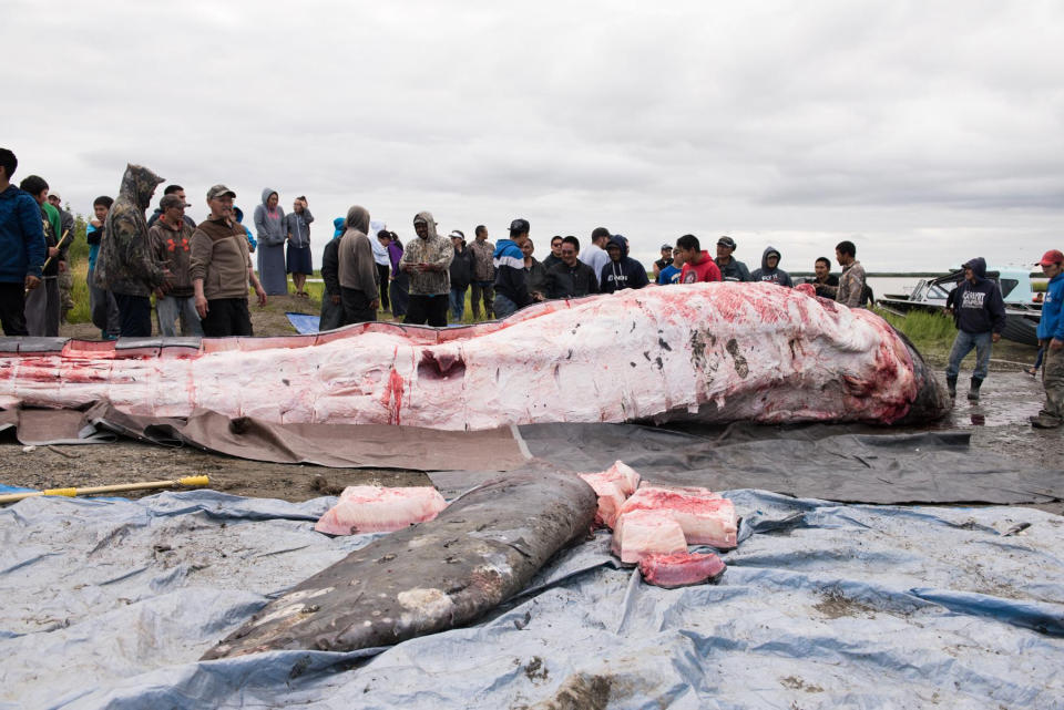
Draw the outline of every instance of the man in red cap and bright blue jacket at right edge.
[[[1050,249],[1042,255],[1036,266],[1050,277],[1042,301],[1042,320],[1039,321],[1039,344],[1042,360],[1042,385],[1045,388],[1045,407],[1031,418],[1037,429],[1056,429],[1064,421],[1064,254]]]

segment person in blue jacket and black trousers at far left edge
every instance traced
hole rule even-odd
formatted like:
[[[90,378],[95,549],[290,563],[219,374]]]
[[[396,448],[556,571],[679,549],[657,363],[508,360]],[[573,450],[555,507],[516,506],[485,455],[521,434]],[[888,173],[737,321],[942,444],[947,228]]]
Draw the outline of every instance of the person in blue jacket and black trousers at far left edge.
[[[25,291],[41,284],[44,222],[30,195],[11,184],[19,166],[14,153],[0,148],[0,326],[4,336],[28,336]]]

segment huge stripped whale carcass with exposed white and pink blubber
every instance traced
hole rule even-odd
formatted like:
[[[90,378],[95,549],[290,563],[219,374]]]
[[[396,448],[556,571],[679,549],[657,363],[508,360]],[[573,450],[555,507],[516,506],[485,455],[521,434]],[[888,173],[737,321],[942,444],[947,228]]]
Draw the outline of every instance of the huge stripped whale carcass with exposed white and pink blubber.
[[[811,291],[811,289],[808,289]],[[770,284],[532,306],[463,328],[0,342],[0,407],[483,430],[542,422],[934,419],[945,392],[883,319]]]

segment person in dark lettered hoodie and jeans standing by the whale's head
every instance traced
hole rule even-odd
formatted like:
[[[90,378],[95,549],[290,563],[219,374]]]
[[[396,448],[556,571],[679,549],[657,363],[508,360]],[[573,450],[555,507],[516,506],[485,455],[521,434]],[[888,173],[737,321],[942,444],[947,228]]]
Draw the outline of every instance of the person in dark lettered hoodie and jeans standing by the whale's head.
[[[998,284],[986,278],[984,258],[975,257],[964,264],[964,280],[956,287],[953,306],[958,330],[945,368],[945,383],[950,397],[955,398],[961,360],[974,348],[975,370],[968,399],[978,402],[979,388],[990,366],[991,343],[1001,340],[1001,331],[1005,329],[1005,302]]]

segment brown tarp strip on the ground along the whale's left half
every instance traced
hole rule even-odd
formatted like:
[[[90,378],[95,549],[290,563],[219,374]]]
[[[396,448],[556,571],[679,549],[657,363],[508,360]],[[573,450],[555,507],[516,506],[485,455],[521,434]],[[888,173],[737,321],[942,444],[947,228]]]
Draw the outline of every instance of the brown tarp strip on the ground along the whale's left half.
[[[0,411],[0,431],[12,426],[23,444],[103,443],[117,434],[254,461],[335,469],[510,471],[526,461],[516,428],[454,432],[387,424],[274,424],[209,410],[166,419],[126,414],[108,402],[85,411]]]

